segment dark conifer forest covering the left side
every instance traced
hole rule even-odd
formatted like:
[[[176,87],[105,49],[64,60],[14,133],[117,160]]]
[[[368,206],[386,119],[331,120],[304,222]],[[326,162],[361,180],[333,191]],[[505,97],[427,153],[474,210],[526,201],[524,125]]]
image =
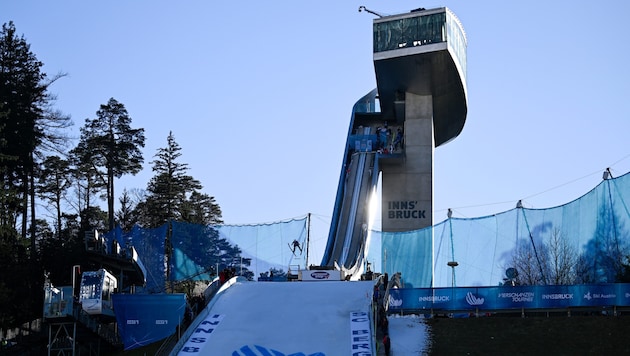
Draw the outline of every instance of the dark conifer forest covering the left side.
[[[50,90],[66,74],[49,76],[42,67],[25,36],[18,34],[12,22],[3,24],[0,329],[41,317],[45,275],[53,284],[71,284],[72,266],[88,262],[86,232],[223,222],[214,197],[188,174],[172,132],[149,162],[153,176],[146,188],[116,190],[116,179],[145,169],[145,130],[133,127],[125,105],[110,98],[95,108],[93,118],[85,119],[79,137],[73,139],[76,129],[70,115],[55,107]],[[161,253],[168,259],[172,246],[169,228],[166,231]],[[219,262],[224,265],[240,257],[238,247],[229,246],[212,231],[207,235],[211,238],[204,239],[202,247],[220,253],[209,253],[208,260],[196,263],[211,270]],[[168,281],[168,268],[160,272]]]

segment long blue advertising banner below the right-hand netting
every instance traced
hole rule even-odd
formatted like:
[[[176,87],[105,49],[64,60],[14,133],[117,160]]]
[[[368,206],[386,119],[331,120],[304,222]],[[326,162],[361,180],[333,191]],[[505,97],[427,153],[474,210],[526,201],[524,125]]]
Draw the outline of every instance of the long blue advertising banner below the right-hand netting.
[[[390,290],[389,309],[502,310],[630,306],[630,284],[501,286]]]

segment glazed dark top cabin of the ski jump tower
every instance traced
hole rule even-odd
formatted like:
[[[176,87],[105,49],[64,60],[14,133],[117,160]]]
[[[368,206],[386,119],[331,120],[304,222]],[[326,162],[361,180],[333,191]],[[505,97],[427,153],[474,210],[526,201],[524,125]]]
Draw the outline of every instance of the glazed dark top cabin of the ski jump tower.
[[[435,146],[455,138],[467,113],[466,33],[448,8],[374,19],[374,68],[381,111],[404,121],[404,93],[433,97]],[[400,105],[398,105],[400,108]]]

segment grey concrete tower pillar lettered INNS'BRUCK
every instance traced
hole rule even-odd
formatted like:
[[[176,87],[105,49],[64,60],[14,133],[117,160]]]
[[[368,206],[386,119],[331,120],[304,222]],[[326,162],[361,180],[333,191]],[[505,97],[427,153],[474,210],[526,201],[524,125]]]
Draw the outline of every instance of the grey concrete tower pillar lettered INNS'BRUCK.
[[[432,103],[430,95],[405,94],[404,158],[380,163],[384,232],[433,225]]]

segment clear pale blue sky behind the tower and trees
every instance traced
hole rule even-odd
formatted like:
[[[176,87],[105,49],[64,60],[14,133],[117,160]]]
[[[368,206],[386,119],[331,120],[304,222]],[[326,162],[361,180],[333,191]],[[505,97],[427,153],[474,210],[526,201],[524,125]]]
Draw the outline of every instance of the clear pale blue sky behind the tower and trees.
[[[376,86],[372,19],[447,6],[468,37],[468,117],[435,151],[434,222],[560,205],[630,171],[627,1],[2,1],[73,134],[110,97],[169,131],[228,224],[329,220],[352,105]],[[327,231],[321,232],[326,234]]]

